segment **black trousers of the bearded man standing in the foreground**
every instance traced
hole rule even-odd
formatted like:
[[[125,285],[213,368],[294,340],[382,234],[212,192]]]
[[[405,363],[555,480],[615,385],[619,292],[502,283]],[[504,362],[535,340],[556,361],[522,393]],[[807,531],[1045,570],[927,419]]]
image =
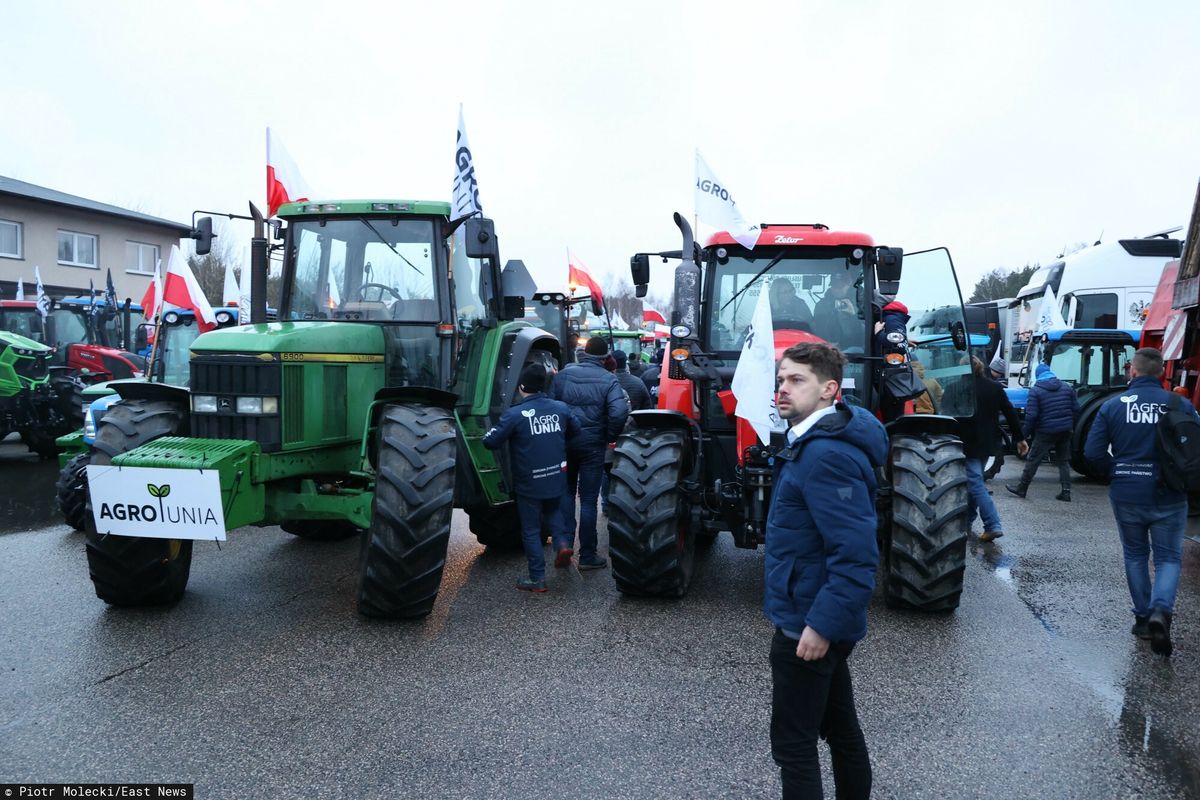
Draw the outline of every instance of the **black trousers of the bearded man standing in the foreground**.
[[[796,656],[796,639],[770,642],[770,754],[779,764],[784,800],[822,798],[817,736],[829,742],[839,800],[871,794],[871,762],[858,726],[846,661],[853,642],[834,642],[816,661]]]

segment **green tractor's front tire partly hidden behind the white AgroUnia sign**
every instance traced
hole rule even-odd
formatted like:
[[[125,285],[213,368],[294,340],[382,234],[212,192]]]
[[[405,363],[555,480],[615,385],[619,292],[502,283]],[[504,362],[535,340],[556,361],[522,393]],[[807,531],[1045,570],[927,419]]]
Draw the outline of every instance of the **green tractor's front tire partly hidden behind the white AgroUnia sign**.
[[[91,465],[106,467],[124,452],[186,428],[187,414],[178,403],[122,401],[101,420]],[[97,597],[112,606],[162,606],[182,597],[192,571],[192,540],[101,535],[90,498],[84,527],[88,571]]]

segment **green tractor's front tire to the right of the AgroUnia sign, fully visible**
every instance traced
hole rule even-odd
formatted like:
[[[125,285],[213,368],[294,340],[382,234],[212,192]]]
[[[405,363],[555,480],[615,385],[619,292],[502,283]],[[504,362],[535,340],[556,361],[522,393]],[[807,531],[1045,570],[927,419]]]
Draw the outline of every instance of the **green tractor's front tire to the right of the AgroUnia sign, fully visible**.
[[[379,419],[371,528],[359,559],[359,613],[410,619],[433,610],[450,543],[454,415],[388,405]]]

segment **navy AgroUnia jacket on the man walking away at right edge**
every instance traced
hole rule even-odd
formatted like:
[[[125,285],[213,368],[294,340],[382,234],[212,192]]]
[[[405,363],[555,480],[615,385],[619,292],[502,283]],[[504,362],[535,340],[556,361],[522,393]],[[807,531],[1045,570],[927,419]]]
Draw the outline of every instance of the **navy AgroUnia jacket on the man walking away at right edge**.
[[[1166,506],[1187,501],[1182,492],[1159,482],[1158,417],[1171,393],[1154,378],[1134,378],[1123,392],[1100,405],[1084,445],[1084,458],[1109,475],[1114,503]],[[1184,398],[1184,411],[1195,414]],[[1112,453],[1109,455],[1109,445]]]

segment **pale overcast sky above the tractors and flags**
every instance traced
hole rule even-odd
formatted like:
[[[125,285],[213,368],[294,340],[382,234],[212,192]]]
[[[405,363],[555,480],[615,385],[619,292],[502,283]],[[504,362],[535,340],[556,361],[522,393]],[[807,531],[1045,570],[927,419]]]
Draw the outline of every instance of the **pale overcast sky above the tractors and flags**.
[[[696,148],[749,221],[947,246],[964,295],[1186,224],[1200,2],[983,5],[11,2],[0,174],[245,212],[270,125],[318,194],[449,200],[462,103],[502,257],[559,288],[678,247]]]

